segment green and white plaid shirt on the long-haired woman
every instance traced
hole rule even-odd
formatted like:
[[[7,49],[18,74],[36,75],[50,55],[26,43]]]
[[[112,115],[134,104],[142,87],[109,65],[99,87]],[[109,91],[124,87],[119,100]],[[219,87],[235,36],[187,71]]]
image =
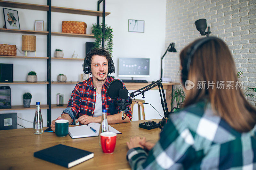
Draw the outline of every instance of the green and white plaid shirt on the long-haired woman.
[[[233,129],[211,105],[198,102],[170,116],[160,139],[148,153],[127,152],[132,169],[256,169],[256,126]]]

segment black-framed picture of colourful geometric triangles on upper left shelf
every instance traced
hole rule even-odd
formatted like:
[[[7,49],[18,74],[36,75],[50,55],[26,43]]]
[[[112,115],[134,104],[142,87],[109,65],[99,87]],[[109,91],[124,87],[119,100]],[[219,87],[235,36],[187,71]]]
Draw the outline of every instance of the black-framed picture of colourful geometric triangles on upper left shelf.
[[[3,8],[4,11],[4,23],[7,29],[20,30],[20,21],[18,11]]]

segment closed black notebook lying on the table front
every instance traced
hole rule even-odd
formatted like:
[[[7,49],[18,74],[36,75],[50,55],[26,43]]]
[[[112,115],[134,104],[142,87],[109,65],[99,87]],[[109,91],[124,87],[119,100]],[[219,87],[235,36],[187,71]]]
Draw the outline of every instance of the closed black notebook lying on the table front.
[[[70,168],[94,157],[93,152],[58,144],[34,153],[34,157]]]

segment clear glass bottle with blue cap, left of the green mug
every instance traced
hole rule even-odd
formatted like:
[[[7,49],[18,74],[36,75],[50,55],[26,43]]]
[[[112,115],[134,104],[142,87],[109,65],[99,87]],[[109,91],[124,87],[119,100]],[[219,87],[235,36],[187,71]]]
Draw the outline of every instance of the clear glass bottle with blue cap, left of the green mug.
[[[36,102],[36,114],[34,118],[34,134],[39,135],[43,133],[43,118],[41,115],[40,102]]]

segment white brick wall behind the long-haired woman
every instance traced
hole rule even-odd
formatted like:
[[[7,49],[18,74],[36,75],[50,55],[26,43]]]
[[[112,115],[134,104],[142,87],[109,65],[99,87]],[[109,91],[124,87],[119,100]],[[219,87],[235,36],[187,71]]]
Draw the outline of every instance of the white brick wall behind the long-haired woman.
[[[180,82],[179,52],[202,37],[194,24],[201,18],[207,20],[210,36],[228,44],[237,71],[243,71],[244,89],[256,87],[256,0],[167,0],[165,44],[167,48],[175,42],[177,53],[166,54],[163,77]],[[249,97],[248,101],[256,106],[256,99]]]

